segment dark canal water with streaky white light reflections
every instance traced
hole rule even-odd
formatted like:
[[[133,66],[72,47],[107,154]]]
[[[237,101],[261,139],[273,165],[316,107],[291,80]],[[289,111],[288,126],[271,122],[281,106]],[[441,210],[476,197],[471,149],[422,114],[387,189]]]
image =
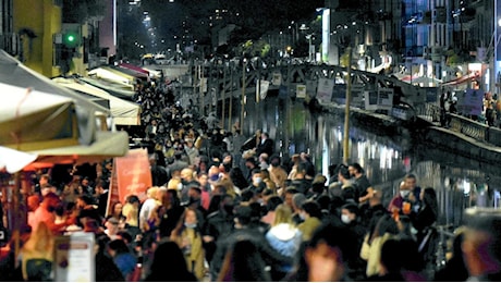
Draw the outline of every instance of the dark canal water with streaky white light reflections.
[[[240,102],[233,100],[233,122],[242,114]],[[261,128],[274,139],[277,151],[284,158],[307,152],[317,172],[326,176],[330,164],[342,163],[342,115],[310,111],[304,100],[286,101],[278,96],[260,101],[247,96],[244,109],[242,128],[245,136],[249,137],[255,130]],[[435,149],[418,138],[394,135],[395,131],[389,133],[354,120],[350,121],[349,160],[358,162],[372,186],[383,192],[383,204],[396,193],[403,176],[414,173],[420,187],[437,190],[439,224],[460,225],[463,211],[468,207],[499,207],[501,180],[498,173],[501,165],[493,167],[452,151]],[[229,122],[227,119],[225,124]]]

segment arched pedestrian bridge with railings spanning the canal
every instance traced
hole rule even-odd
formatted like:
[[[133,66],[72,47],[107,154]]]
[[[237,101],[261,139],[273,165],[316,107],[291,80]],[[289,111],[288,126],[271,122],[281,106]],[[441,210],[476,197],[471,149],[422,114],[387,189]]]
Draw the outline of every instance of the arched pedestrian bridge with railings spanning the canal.
[[[196,94],[215,93],[234,94],[239,96],[244,87],[246,91],[255,91],[258,79],[271,82],[270,90],[286,89],[290,97],[295,97],[296,85],[306,85],[307,89],[316,89],[319,78],[334,79],[335,84],[347,83],[347,69],[326,64],[277,64],[257,67],[255,62],[194,63],[191,65],[157,65],[168,77],[181,76],[180,71],[186,70],[183,86],[197,86]],[[245,75],[242,71],[245,70]],[[362,86],[364,90],[391,88],[394,91],[394,104],[405,103],[417,106],[429,100],[437,101],[437,88],[415,86],[400,81],[394,76],[377,74],[359,70],[351,70],[352,87]],[[284,88],[285,87],[285,88]],[[359,88],[359,87],[358,87]],[[313,94],[308,94],[313,95]],[[435,102],[433,101],[433,102]]]

